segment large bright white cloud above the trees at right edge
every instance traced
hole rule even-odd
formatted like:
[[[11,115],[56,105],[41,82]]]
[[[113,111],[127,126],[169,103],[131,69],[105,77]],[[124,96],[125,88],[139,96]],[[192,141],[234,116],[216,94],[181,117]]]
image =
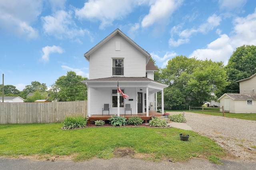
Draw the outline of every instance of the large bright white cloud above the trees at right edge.
[[[230,37],[226,34],[213,42],[209,43],[205,49],[196,49],[190,54],[190,57],[198,57],[198,59],[212,59],[212,61],[223,61],[224,65],[228,63],[228,59],[233,51],[242,45],[256,45],[256,10],[253,14],[242,18],[234,19],[234,29]],[[220,34],[220,30],[216,30]]]

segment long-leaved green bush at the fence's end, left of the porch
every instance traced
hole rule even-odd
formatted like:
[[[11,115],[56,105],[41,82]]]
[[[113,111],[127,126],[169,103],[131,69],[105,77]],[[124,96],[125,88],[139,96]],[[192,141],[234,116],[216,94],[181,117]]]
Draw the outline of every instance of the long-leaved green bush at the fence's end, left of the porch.
[[[68,115],[62,122],[64,129],[86,127],[87,120],[82,115]]]

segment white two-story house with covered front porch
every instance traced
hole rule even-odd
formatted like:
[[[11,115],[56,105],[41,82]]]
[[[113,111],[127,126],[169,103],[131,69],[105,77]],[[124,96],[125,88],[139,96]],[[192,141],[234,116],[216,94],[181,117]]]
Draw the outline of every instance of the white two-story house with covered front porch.
[[[89,79],[82,81],[88,87],[89,116],[108,114],[102,112],[104,104],[109,105],[110,115],[124,114],[126,104],[130,104],[132,115],[146,111],[148,116],[150,110],[157,109],[157,92],[162,92],[164,106],[163,92],[168,86],[154,81],[157,69],[149,61],[150,54],[119,29],[86,52],[84,57],[89,61]],[[118,84],[128,99],[120,95],[118,100]]]

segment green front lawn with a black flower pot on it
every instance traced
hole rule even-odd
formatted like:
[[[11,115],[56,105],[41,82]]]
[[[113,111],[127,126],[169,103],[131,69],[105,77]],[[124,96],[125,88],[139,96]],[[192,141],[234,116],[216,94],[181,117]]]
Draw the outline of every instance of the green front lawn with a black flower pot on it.
[[[112,158],[116,148],[132,148],[145,160],[186,161],[191,157],[221,158],[213,140],[178,128],[83,128],[61,130],[61,123],[0,125],[0,156],[71,155],[74,161]],[[180,133],[190,134],[181,141]]]

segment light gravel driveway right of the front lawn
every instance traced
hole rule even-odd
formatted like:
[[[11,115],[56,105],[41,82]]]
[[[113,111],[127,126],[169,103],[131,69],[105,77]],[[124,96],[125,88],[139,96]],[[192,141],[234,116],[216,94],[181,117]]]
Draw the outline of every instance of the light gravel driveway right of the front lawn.
[[[190,112],[185,117],[193,131],[224,148],[229,153],[227,159],[256,160],[256,121]]]

